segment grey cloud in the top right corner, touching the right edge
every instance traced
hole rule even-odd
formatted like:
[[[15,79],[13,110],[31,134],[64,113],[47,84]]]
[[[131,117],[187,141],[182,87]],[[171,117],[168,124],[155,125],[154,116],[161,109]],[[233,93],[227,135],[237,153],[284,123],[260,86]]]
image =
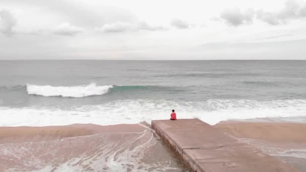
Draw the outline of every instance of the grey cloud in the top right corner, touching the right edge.
[[[257,18],[270,24],[286,24],[289,20],[306,17],[306,4],[300,4],[295,0],[288,0],[284,8],[278,12],[257,11]]]

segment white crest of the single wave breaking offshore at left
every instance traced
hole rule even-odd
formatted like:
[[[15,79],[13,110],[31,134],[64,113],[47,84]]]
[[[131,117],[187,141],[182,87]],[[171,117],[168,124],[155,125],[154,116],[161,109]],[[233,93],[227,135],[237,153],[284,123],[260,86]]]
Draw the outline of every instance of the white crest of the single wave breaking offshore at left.
[[[71,98],[82,98],[87,96],[97,96],[106,94],[113,85],[99,86],[96,83],[89,85],[78,85],[71,87],[53,87],[51,85],[32,85],[27,84],[27,92],[29,95],[40,96],[61,96]]]

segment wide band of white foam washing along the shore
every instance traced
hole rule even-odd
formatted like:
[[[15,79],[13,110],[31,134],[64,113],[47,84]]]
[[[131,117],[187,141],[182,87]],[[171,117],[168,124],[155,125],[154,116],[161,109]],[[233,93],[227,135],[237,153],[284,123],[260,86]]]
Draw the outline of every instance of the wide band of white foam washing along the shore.
[[[229,119],[306,117],[306,100],[177,102],[138,99],[74,106],[68,109],[0,107],[2,119],[0,126],[48,126],[74,123],[113,125],[136,124],[142,121],[150,123],[151,120],[169,119],[172,109],[176,110],[177,118],[199,118],[214,125]]]

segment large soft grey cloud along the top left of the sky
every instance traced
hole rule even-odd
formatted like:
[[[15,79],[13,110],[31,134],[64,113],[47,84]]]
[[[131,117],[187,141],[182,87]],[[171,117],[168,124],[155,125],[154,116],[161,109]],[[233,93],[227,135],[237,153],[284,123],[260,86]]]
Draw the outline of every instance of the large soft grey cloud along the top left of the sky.
[[[114,6],[106,6],[102,1],[69,1],[69,0],[1,0],[0,4],[9,6],[19,6],[23,11],[39,9],[45,14],[50,13],[54,17],[59,17],[64,22],[70,24],[94,28],[106,23],[116,21],[132,22],[136,16],[124,9]]]

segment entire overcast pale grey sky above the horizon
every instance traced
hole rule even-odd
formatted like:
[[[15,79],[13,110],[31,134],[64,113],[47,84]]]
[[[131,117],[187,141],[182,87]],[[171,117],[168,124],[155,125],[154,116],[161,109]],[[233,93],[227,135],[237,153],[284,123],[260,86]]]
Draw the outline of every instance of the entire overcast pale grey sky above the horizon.
[[[306,2],[1,0],[0,59],[306,59]]]

